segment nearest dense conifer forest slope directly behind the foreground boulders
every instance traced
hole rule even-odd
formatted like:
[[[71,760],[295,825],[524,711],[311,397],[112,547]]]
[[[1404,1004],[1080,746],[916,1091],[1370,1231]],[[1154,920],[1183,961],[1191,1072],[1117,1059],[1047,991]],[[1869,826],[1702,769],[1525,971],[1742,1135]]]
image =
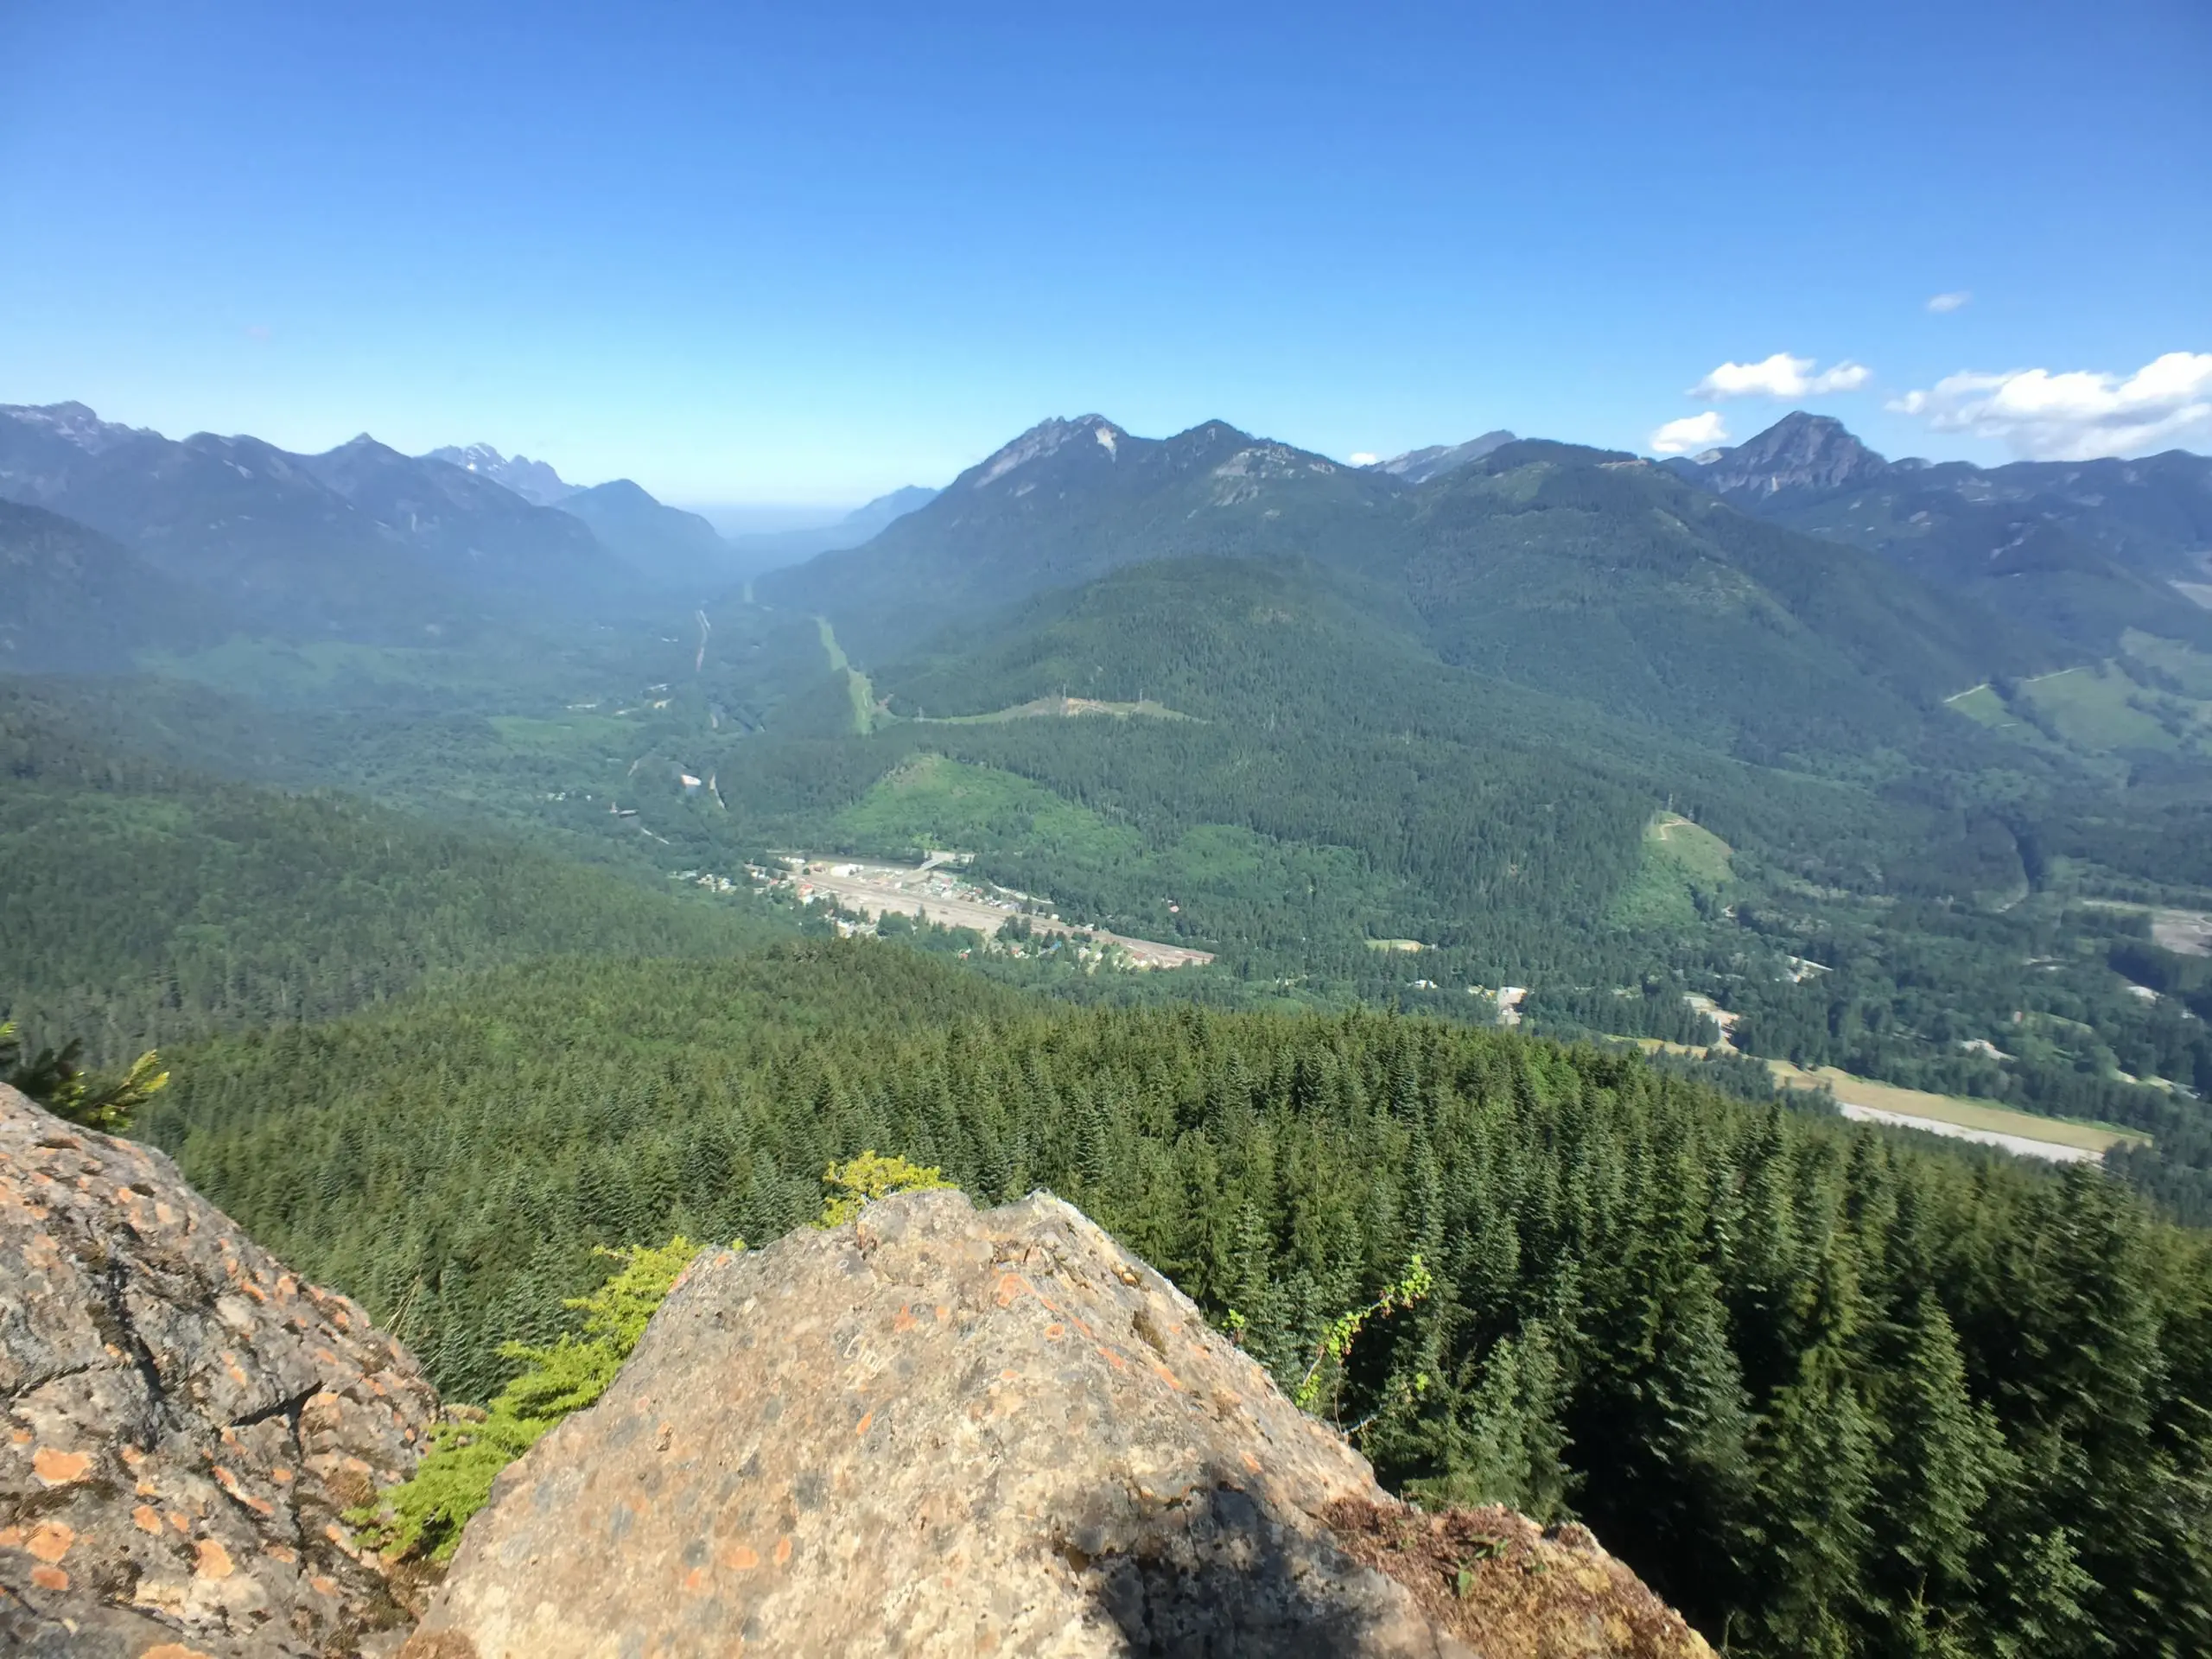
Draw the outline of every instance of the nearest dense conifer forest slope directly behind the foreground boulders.
[[[190,1179],[460,1396],[588,1245],[774,1239],[863,1148],[1051,1186],[1394,1484],[1588,1517],[1732,1652],[2212,1641],[2212,1261],[2088,1170],[1378,1015],[1075,1013],[880,945],[546,962],[177,1057]]]

